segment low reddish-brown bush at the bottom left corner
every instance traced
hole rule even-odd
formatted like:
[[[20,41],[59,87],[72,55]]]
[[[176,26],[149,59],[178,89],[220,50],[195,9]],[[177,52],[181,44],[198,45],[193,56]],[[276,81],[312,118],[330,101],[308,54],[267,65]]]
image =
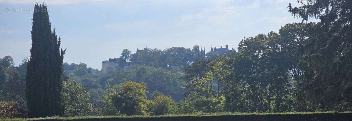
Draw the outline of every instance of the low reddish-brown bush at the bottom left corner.
[[[17,101],[0,102],[0,119],[21,117]]]

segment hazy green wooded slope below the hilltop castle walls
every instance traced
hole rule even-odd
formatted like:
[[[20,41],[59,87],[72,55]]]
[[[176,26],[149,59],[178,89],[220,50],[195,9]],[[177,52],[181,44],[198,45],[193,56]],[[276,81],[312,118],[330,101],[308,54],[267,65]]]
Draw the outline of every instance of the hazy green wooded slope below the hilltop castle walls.
[[[74,68],[70,68],[75,66]],[[84,63],[70,64],[64,63],[65,76],[63,81],[75,80],[75,82],[82,84],[86,90],[92,95],[89,100],[90,103],[99,105],[106,84],[109,84],[118,89],[122,83],[133,81],[147,85],[147,91],[160,91],[163,94],[170,95],[175,100],[182,99],[182,92],[186,83],[182,80],[183,73],[179,71],[169,71],[162,68],[153,68],[152,66],[134,66],[131,71],[124,71],[122,68],[117,69],[113,74],[102,75],[94,77],[89,74],[89,69]],[[81,75],[83,74],[83,75]],[[150,94],[147,94],[150,97]]]

